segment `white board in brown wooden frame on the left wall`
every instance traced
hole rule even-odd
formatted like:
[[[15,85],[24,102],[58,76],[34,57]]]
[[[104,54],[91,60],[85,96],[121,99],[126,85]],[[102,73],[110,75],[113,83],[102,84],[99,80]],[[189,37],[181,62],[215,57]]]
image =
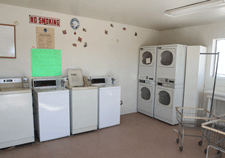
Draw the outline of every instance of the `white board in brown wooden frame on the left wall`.
[[[16,58],[16,26],[0,24],[0,58]]]

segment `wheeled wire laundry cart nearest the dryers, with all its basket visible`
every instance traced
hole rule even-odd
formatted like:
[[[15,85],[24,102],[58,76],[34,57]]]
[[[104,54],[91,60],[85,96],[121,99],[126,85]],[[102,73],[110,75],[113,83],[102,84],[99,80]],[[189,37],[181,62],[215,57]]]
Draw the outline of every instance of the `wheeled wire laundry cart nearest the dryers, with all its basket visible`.
[[[201,141],[198,145],[201,146],[203,142],[203,136],[199,135],[185,135],[185,128],[193,128],[195,130],[201,130],[201,124],[209,120],[214,120],[217,117],[210,112],[201,108],[188,108],[188,107],[176,107],[176,118],[179,123],[177,143],[182,139],[182,145],[179,147],[180,151],[183,151],[184,136],[201,137]],[[182,132],[181,132],[182,131]]]

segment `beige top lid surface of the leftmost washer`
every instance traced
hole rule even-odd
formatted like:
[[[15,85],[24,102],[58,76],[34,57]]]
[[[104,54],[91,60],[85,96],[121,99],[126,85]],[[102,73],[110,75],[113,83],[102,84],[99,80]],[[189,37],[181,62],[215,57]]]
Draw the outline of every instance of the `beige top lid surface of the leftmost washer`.
[[[23,88],[23,87],[0,89],[0,95],[9,95],[9,94],[18,94],[18,93],[31,93],[31,89]]]

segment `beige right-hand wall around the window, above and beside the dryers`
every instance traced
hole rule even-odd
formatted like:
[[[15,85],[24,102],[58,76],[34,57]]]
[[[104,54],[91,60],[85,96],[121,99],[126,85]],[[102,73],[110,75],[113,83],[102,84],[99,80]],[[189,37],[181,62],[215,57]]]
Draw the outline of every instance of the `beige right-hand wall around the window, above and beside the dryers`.
[[[181,29],[167,30],[160,32],[160,44],[180,43],[185,45],[203,45],[208,52],[214,52],[213,39],[225,38],[225,23],[215,23],[202,26],[186,27]],[[194,58],[194,56],[193,56]],[[205,89],[212,90],[214,78],[211,76],[212,61],[207,58]],[[225,79],[217,79],[216,89],[225,91]],[[224,111],[225,112],[225,111]]]

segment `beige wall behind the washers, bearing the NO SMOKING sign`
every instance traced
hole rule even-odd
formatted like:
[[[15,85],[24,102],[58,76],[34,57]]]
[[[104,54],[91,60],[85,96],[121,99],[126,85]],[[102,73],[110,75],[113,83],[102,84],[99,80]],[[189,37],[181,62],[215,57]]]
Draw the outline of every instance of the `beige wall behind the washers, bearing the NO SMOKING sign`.
[[[62,51],[63,76],[67,75],[68,67],[81,68],[83,75],[110,75],[116,78],[116,85],[122,88],[124,104],[121,114],[136,112],[139,47],[158,44],[158,31],[119,23],[113,23],[114,28],[111,28],[111,22],[108,21],[0,4],[0,23],[19,22],[16,27],[17,58],[0,59],[0,77],[32,75],[30,49],[36,47],[36,26],[42,25],[29,24],[29,15],[60,19],[61,27],[54,27],[55,49]],[[76,36],[70,27],[70,20],[74,17],[81,24]],[[123,31],[123,27],[127,30]],[[87,32],[83,32],[83,28]],[[62,34],[64,29],[67,35]],[[104,34],[105,30],[109,31],[108,35]],[[134,36],[135,32],[138,33],[137,37]],[[78,36],[87,42],[87,48],[77,42]],[[72,43],[78,46],[75,48]]]

